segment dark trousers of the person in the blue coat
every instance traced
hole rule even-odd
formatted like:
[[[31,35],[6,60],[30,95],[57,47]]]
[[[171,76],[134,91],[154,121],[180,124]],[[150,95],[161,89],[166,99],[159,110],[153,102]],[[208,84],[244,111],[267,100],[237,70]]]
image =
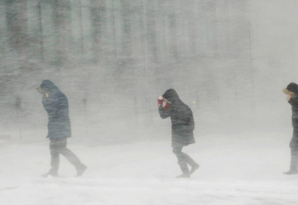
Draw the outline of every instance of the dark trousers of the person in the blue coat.
[[[74,165],[77,169],[80,168],[83,164],[77,158],[77,156],[70,151],[67,146],[67,139],[59,139],[59,140],[51,140],[50,141],[50,152],[51,152],[51,171],[57,172],[59,169],[59,161],[60,161],[60,155],[66,157],[66,159]]]

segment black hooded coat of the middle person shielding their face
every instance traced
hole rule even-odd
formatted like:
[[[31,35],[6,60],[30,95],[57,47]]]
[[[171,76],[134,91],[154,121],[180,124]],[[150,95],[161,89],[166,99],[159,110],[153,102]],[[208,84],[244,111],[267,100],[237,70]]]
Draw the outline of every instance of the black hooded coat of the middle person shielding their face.
[[[170,109],[165,111],[159,107],[159,114],[162,119],[171,118],[172,122],[172,147],[188,146],[195,143],[193,130],[195,122],[193,121],[193,112],[179,98],[174,89],[167,90],[163,97],[172,102]]]

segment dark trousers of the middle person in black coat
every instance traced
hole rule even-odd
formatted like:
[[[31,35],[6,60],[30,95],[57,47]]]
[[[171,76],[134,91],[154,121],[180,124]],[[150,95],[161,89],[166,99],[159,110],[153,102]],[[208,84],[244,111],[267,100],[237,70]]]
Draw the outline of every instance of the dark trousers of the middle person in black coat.
[[[184,152],[182,152],[183,146],[178,146],[173,148],[173,153],[176,154],[178,159],[178,165],[180,166],[180,169],[183,173],[187,174],[189,173],[189,167],[187,164],[189,164],[191,167],[194,165],[197,165],[193,159]]]

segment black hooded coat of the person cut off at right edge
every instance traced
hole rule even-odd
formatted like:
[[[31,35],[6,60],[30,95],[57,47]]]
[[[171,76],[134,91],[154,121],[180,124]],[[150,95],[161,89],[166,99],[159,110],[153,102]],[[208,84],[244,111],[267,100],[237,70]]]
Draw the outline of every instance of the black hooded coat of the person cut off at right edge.
[[[298,85],[296,83],[290,83],[286,90],[293,92],[298,96]],[[292,106],[292,125],[294,128],[293,137],[290,141],[290,148],[298,149],[298,97],[292,96],[288,103]]]

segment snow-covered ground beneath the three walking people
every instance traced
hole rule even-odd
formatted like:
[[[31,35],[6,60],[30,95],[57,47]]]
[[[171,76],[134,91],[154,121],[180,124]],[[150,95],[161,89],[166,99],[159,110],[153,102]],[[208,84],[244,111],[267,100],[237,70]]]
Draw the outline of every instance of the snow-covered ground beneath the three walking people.
[[[184,148],[200,163],[190,179],[169,141],[68,148],[88,166],[74,178],[61,157],[59,178],[49,169],[49,141],[0,144],[0,204],[298,204],[298,176],[284,176],[290,162],[288,133],[197,137]]]

